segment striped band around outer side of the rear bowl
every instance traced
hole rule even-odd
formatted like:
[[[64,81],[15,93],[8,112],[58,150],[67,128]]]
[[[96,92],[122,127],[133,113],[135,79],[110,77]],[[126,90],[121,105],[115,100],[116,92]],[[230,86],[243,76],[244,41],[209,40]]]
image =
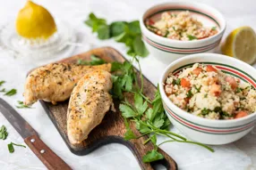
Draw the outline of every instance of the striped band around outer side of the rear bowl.
[[[219,39],[217,42],[215,42],[211,45],[208,45],[206,47],[197,48],[197,49],[190,49],[190,48],[188,48],[188,49],[182,49],[182,48],[177,49],[176,47],[172,48],[172,47],[167,47],[165,45],[159,45],[159,44],[153,42],[152,40],[150,40],[148,37],[146,37],[144,35],[142,37],[147,43],[149,43],[149,45],[155,46],[158,49],[161,49],[161,50],[164,50],[164,51],[167,51],[167,52],[171,52],[171,53],[172,52],[174,52],[174,53],[201,53],[201,52],[208,51],[208,50],[216,47],[220,42],[220,39]]]

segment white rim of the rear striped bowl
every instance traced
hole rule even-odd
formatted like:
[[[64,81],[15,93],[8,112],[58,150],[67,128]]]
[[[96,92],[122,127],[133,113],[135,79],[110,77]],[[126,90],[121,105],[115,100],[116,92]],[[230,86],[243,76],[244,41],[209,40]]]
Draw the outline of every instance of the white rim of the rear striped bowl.
[[[197,7],[198,6],[205,6],[205,7],[209,8],[211,12],[218,13],[218,15],[219,15],[218,19],[221,20],[221,22],[223,23],[223,27],[220,28],[220,30],[218,31],[218,33],[216,35],[209,36],[207,38],[203,38],[203,39],[199,39],[199,40],[195,40],[195,41],[181,41],[181,40],[169,39],[169,38],[166,38],[166,37],[163,37],[163,36],[158,36],[158,35],[152,33],[151,31],[149,31],[148,28],[146,28],[145,23],[144,23],[144,16],[145,16],[146,12],[149,12],[149,10],[152,10],[154,8],[164,6],[164,5],[167,5],[167,4],[187,4],[188,6],[197,6]],[[201,7],[198,7],[198,8],[201,9]],[[184,44],[184,43],[186,43],[188,45],[193,45],[193,44],[197,44],[197,43],[201,43],[201,44],[207,43],[207,41],[210,41],[211,39],[214,39],[218,36],[221,37],[223,35],[223,33],[225,32],[225,30],[226,30],[226,20],[225,20],[223,14],[221,12],[218,12],[217,9],[209,6],[208,4],[202,4],[202,3],[197,3],[197,2],[188,2],[188,1],[180,1],[180,2],[179,1],[174,1],[174,2],[169,2],[169,3],[161,3],[161,4],[152,5],[151,7],[149,7],[147,10],[145,10],[143,12],[143,14],[141,15],[140,23],[141,23],[142,32],[144,30],[150,36],[152,36],[155,39],[157,39],[158,41],[162,41],[166,44],[167,43],[174,43],[174,44],[177,44],[177,45]]]

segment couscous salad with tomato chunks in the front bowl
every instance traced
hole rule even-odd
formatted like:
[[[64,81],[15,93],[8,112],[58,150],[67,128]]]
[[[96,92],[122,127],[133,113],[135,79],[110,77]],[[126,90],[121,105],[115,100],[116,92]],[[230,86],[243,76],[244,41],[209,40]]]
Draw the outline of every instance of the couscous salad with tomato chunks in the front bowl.
[[[256,90],[212,65],[195,63],[166,78],[165,92],[179,108],[209,119],[234,119],[256,111]]]

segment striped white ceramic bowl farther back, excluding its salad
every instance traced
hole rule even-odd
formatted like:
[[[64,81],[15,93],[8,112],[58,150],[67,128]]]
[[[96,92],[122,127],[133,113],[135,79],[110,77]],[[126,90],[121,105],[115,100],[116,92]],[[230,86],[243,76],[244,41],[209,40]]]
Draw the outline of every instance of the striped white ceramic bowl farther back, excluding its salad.
[[[144,21],[150,19],[153,22],[159,20],[162,12],[190,11],[192,16],[200,20],[205,27],[217,26],[218,34],[201,40],[180,41],[158,36],[146,28]],[[176,2],[155,5],[141,17],[140,20],[143,40],[159,61],[171,62],[192,53],[214,53],[226,28],[226,21],[222,14],[214,8],[199,3]]]

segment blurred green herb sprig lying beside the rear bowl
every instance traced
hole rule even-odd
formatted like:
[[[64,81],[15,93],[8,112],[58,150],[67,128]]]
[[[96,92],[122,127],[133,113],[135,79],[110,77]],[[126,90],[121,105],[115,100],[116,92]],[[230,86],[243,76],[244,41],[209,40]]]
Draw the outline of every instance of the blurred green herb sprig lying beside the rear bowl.
[[[124,43],[129,50],[128,55],[148,56],[149,52],[141,40],[141,28],[139,20],[132,22],[115,21],[107,25],[105,19],[100,19],[95,14],[90,13],[85,24],[92,28],[92,32],[98,33],[99,39],[109,39],[115,37],[115,41]]]

